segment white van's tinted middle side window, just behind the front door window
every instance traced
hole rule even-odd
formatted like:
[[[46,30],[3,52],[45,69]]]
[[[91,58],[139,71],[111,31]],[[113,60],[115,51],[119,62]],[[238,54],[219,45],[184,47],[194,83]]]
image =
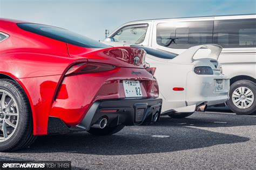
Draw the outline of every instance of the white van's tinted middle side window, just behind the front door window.
[[[189,48],[211,44],[213,21],[160,23],[157,25],[157,44],[169,48]]]

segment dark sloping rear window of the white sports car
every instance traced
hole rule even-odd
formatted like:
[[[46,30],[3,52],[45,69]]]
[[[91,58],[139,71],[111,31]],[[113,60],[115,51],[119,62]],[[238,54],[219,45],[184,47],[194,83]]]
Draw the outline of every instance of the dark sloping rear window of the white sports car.
[[[142,48],[147,52],[147,54],[156,56],[156,57],[161,58],[161,59],[174,59],[178,55],[178,54],[164,52],[164,51],[161,51],[159,49],[153,49],[153,48],[140,46],[140,45],[131,45],[131,47]]]

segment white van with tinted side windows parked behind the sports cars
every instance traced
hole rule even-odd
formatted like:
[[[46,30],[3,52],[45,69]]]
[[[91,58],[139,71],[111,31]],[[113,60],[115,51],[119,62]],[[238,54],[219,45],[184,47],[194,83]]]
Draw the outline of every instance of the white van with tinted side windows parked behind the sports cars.
[[[126,23],[104,41],[126,42],[180,54],[187,48],[218,44],[223,73],[230,77],[228,107],[256,111],[256,15],[152,19]]]

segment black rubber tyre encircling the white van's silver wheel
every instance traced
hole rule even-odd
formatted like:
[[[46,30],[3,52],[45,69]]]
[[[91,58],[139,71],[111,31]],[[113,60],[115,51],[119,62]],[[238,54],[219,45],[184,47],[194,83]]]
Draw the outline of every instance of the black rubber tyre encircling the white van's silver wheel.
[[[239,87],[247,87],[250,90],[252,90],[252,93],[254,95],[254,102],[251,104],[250,107],[246,109],[240,109],[237,106],[234,105],[232,101],[232,94],[234,93],[234,90]],[[234,82],[230,87],[230,99],[227,101],[228,107],[237,115],[250,115],[253,114],[256,111],[256,84],[249,80],[239,80],[237,82]]]

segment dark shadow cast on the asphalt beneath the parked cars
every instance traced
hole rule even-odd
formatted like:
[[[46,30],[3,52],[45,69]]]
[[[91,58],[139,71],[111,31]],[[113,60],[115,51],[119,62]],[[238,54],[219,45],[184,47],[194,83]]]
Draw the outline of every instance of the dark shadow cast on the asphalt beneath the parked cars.
[[[215,118],[213,115],[215,115]],[[155,124],[126,126],[122,131],[112,136],[92,136],[87,132],[40,136],[30,148],[19,152],[129,155],[192,150],[222,144],[242,143],[250,140],[247,137],[193,127],[231,127],[244,126],[246,123],[248,123],[247,125],[256,124],[255,120],[248,122],[246,118],[240,117],[228,122],[227,117],[237,115],[213,115],[207,116],[197,113],[195,116],[185,119],[172,119],[165,116],[161,117],[160,122]],[[204,116],[206,117],[204,118]],[[243,123],[242,119],[246,119],[246,121]],[[217,122],[217,120],[228,123],[213,123]],[[164,135],[165,138],[152,137],[156,134]]]

